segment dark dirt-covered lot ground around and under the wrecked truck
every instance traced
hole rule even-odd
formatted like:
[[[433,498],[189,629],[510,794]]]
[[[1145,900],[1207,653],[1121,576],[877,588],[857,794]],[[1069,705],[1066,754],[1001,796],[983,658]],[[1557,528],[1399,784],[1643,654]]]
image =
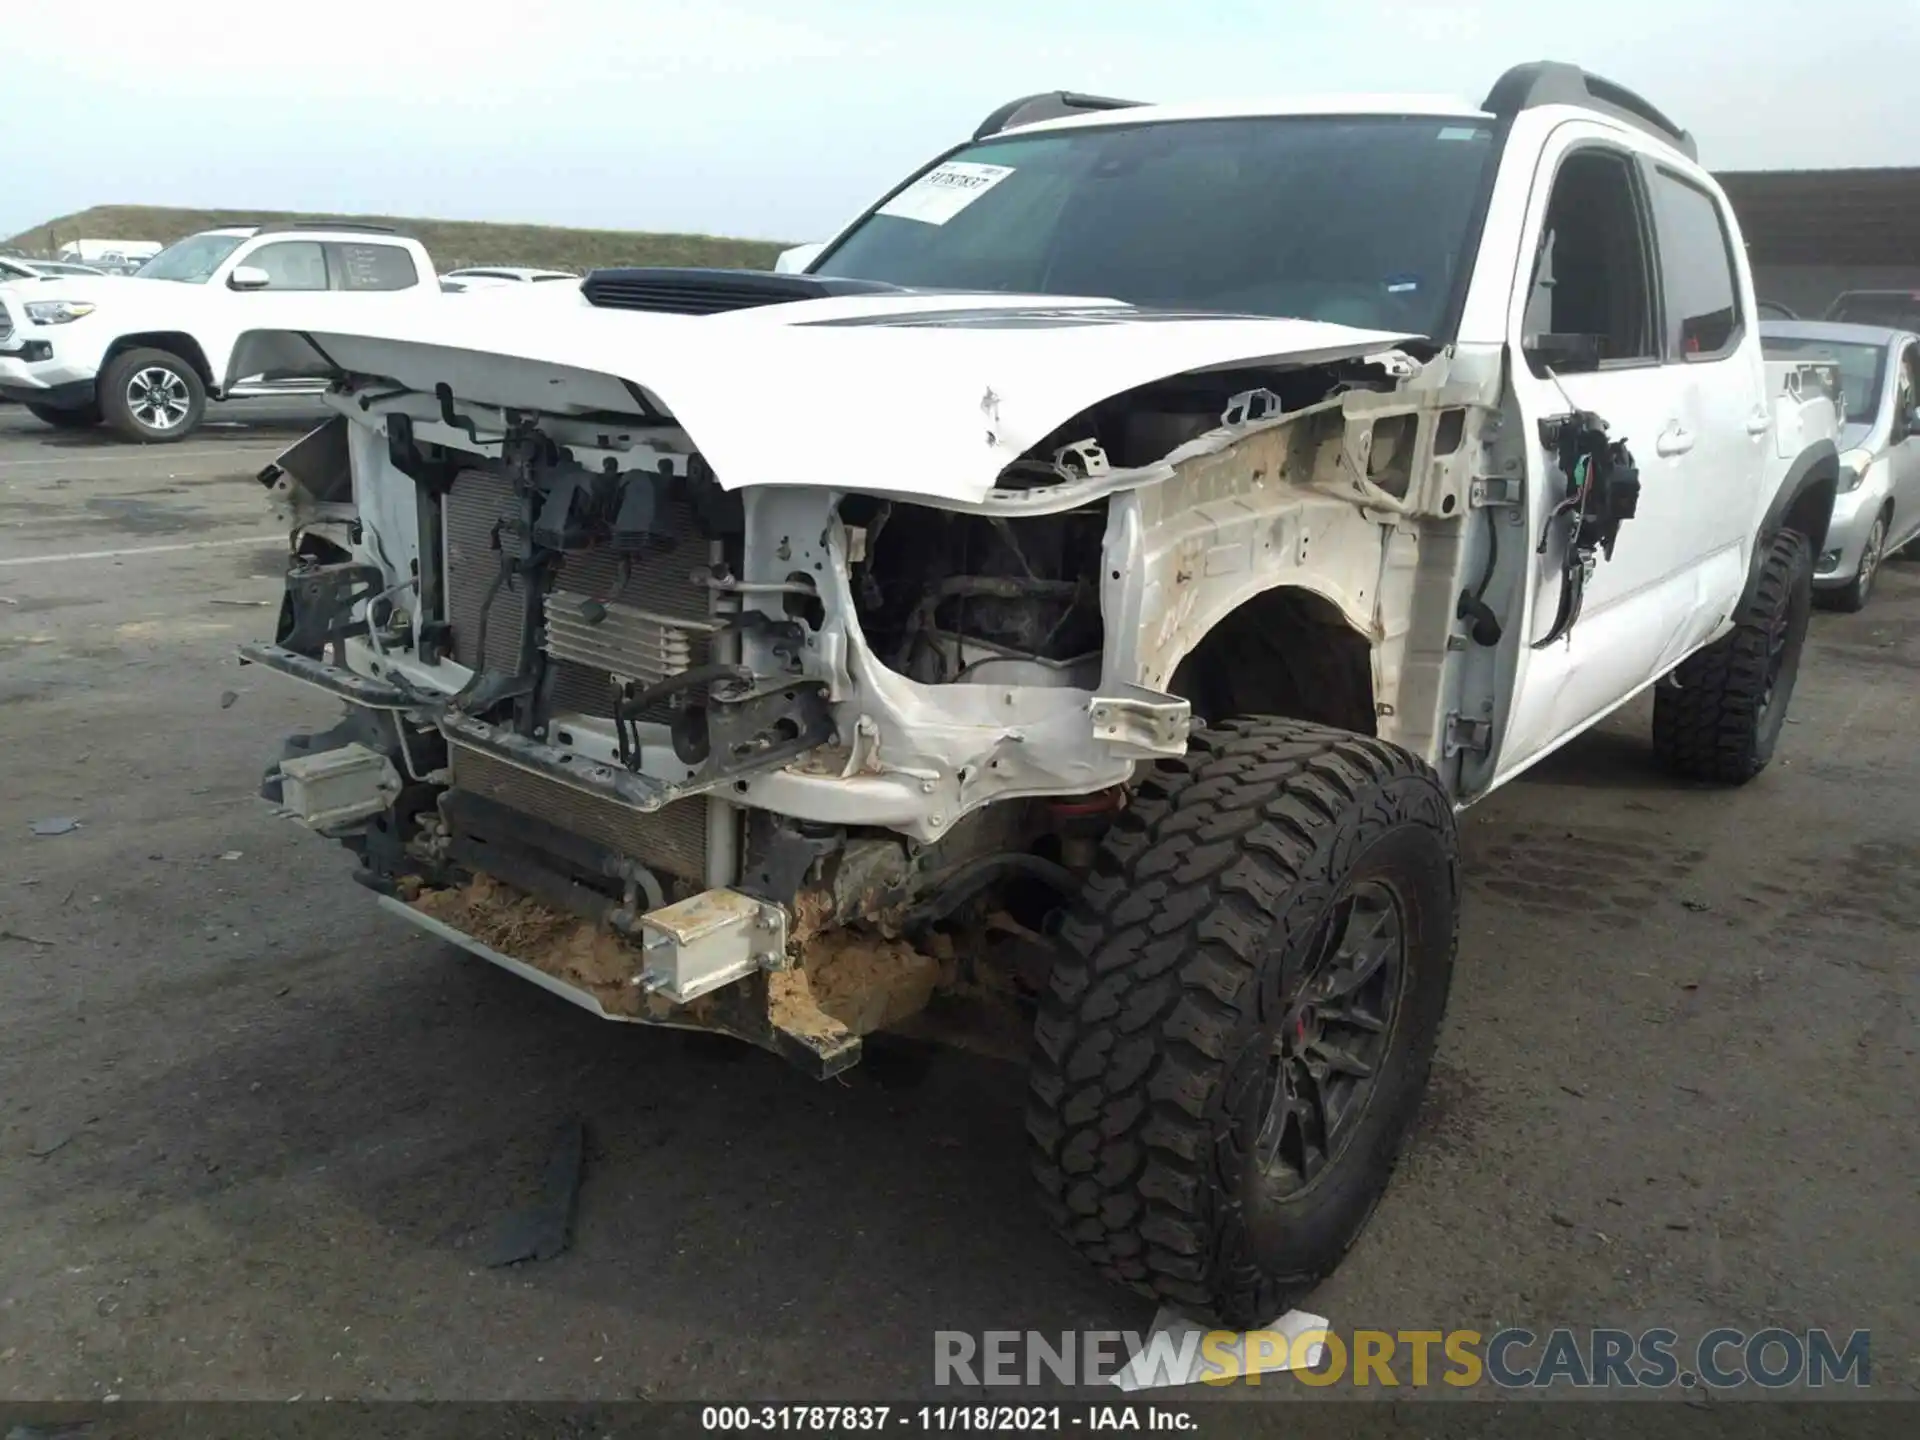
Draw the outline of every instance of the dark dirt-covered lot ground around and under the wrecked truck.
[[[232,659],[298,420],[240,415],[0,407],[0,1398],[904,1396],[935,1329],[1144,1329],[1029,1204],[1018,1069],[595,1021],[253,799],[332,708]],[[1916,674],[1895,563],[1759,783],[1667,783],[1632,707],[1469,812],[1428,1114],[1319,1313],[1870,1329],[1920,1388]],[[572,1116],[572,1250],[488,1269]]]

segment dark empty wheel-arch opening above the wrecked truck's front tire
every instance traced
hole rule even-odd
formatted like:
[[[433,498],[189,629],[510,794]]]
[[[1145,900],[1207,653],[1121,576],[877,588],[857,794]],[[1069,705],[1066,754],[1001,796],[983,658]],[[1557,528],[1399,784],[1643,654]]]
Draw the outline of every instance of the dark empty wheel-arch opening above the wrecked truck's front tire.
[[[1340,607],[1283,586],[1242,603],[1179,662],[1169,689],[1208,720],[1269,714],[1373,735],[1373,645]]]

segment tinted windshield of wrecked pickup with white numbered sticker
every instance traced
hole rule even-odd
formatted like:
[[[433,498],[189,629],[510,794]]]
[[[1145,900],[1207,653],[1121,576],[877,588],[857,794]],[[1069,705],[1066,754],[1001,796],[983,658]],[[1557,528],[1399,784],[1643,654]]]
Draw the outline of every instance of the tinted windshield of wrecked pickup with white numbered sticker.
[[[1490,125],[1173,121],[968,146],[814,267],[1436,336],[1475,252]]]

